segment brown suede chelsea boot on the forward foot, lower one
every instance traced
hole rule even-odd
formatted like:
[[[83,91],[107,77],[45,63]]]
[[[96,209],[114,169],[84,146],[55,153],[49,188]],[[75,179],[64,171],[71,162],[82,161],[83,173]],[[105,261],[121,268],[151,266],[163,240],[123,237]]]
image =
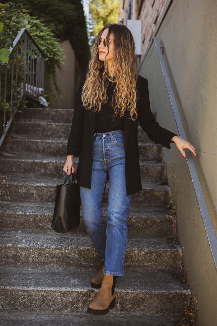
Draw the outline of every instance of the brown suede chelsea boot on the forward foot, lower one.
[[[110,308],[115,306],[115,281],[116,276],[104,274],[102,286],[95,298],[88,305],[87,312],[94,315],[105,315]]]

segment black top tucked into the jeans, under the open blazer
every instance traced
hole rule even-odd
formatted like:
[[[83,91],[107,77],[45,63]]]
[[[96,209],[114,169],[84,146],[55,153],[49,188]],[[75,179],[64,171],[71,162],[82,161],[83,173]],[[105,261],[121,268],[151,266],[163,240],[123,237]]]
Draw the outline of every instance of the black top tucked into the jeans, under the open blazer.
[[[108,76],[111,78],[111,76]],[[108,80],[108,79],[107,79]],[[114,130],[124,130],[124,116],[119,117],[115,115],[112,107],[112,95],[115,91],[116,82],[109,82],[107,87],[108,101],[102,104],[100,112],[96,112],[95,132],[103,133]],[[115,95],[114,95],[115,96]],[[113,118],[115,116],[115,118]]]

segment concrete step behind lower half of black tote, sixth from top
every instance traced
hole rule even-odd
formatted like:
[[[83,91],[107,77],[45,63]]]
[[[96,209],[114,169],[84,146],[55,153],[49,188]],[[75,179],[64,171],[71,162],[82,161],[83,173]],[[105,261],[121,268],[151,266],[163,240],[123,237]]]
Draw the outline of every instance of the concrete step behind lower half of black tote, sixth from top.
[[[53,219],[53,203],[2,202],[0,225],[5,229],[17,230],[50,230]],[[107,207],[102,205],[102,217],[106,224]],[[72,233],[87,234],[80,210],[80,226]],[[160,207],[130,206],[128,235],[173,238],[176,235],[176,216],[168,214]]]

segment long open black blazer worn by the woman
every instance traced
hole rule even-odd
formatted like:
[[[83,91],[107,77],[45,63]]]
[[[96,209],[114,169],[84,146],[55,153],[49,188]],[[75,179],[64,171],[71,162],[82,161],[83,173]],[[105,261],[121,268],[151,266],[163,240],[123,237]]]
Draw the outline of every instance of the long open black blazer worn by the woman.
[[[92,150],[95,133],[96,112],[86,110],[81,101],[82,87],[84,85],[87,73],[88,71],[82,75],[75,101],[71,132],[67,143],[67,155],[79,156],[76,180],[79,185],[91,189],[93,163]],[[131,195],[142,190],[137,139],[138,122],[152,141],[155,143],[160,143],[162,146],[169,149],[171,139],[173,136],[177,135],[170,130],[159,126],[158,122],[155,121],[150,109],[147,79],[139,75],[136,87],[139,91],[139,98],[137,100],[138,117],[134,122],[132,119],[130,119],[128,110],[126,110],[124,114],[124,148],[127,195]]]

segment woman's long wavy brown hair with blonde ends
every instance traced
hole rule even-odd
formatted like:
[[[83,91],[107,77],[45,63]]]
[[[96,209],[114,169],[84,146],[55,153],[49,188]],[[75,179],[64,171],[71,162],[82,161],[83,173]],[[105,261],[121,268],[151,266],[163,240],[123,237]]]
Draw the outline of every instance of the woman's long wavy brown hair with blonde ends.
[[[108,49],[104,61],[99,59],[100,38],[104,29],[108,28],[105,38]],[[85,109],[94,107],[93,111],[100,111],[102,103],[108,101],[106,89],[109,85],[107,76],[107,60],[109,53],[109,36],[114,35],[114,54],[111,70],[115,71],[116,86],[112,96],[112,107],[114,108],[113,118],[123,116],[124,111],[130,112],[130,118],[135,121],[137,93],[136,81],[138,78],[137,59],[135,55],[135,42],[130,30],[123,24],[107,24],[97,35],[88,64],[87,78],[84,83],[81,99]],[[89,105],[89,106],[88,106]]]

